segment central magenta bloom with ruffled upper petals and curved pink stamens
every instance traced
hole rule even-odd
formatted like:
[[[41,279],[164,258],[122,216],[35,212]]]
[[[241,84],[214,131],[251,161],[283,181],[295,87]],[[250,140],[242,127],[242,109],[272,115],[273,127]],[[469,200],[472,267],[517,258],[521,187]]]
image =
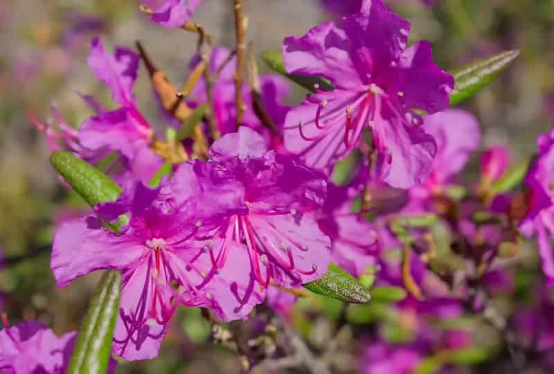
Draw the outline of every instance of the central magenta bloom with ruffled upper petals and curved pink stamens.
[[[176,204],[195,199],[202,225],[215,226],[208,252],[217,269],[238,251],[249,256],[256,291],[270,281],[296,287],[320,278],[330,262],[330,240],[314,211],[323,204],[325,178],[289,157],[268,151],[249,127],[213,143],[211,161],[185,163],[171,180]],[[240,247],[240,249],[238,248]]]

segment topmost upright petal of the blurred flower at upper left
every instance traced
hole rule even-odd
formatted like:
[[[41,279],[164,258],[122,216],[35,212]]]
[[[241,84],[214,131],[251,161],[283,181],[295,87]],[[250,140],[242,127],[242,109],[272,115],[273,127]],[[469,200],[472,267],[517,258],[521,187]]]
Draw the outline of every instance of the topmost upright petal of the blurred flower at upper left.
[[[96,37],[91,42],[91,53],[87,60],[89,68],[111,89],[114,100],[121,105],[134,103],[132,89],[139,70],[139,55],[126,48],[116,48],[115,54],[108,55],[102,39]]]

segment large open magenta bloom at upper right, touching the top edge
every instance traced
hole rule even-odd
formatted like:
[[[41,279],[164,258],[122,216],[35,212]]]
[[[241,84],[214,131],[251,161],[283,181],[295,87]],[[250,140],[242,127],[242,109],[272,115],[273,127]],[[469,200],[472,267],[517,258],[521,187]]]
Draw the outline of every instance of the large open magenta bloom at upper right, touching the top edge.
[[[406,48],[409,27],[381,0],[364,0],[355,15],[285,38],[289,73],[321,76],[334,86],[316,89],[287,114],[289,151],[307,166],[330,172],[367,129],[377,151],[378,179],[399,188],[425,180],[436,143],[411,109],[429,114],[446,109],[454,78],[434,64],[428,42]]]

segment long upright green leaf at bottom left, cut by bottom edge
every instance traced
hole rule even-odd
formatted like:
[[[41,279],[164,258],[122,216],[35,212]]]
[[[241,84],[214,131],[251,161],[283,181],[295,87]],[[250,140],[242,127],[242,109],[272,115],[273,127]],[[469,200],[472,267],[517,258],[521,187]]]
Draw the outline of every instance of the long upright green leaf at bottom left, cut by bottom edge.
[[[79,328],[68,374],[106,373],[119,311],[121,274],[106,271]]]

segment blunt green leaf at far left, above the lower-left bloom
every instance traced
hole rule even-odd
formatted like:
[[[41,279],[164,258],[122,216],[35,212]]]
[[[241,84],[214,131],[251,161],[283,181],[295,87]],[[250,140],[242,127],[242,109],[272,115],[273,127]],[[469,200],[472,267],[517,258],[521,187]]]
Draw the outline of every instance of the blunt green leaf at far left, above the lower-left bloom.
[[[107,175],[71,152],[54,151],[50,162],[90,206],[115,201],[121,193],[121,188]]]

